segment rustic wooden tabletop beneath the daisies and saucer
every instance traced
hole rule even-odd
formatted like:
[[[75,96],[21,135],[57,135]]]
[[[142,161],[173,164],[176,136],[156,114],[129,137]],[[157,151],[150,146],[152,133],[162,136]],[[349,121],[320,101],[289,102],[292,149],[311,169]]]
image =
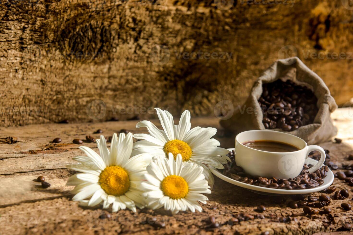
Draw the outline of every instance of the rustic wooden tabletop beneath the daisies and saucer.
[[[342,143],[322,143],[325,149],[330,150],[334,162],[348,163],[348,154],[353,154],[353,109],[339,109],[332,114],[335,125],[339,129],[337,137]],[[135,125],[138,121],[79,123],[79,124],[43,124],[20,127],[0,128],[0,234],[116,234],[116,233],[185,233],[185,234],[312,234],[329,231],[340,231],[342,224],[352,223],[353,211],[343,211],[340,204],[343,200],[331,200],[331,216],[316,215],[304,216],[302,209],[290,209],[287,203],[292,200],[289,196],[263,196],[241,187],[228,184],[216,179],[212,193],[209,195],[207,205],[202,205],[203,212],[192,214],[180,212],[171,216],[164,210],[152,211],[138,210],[136,214],[128,210],[112,213],[110,219],[99,218],[102,210],[82,208],[77,202],[71,200],[72,187],[65,186],[66,180],[73,171],[65,168],[73,163],[72,157],[82,155],[74,138],[84,139],[97,129],[103,130],[103,135],[111,136],[125,128],[137,132]],[[158,122],[155,120],[154,123]],[[193,126],[214,126],[221,129],[219,119],[192,118]],[[158,126],[160,127],[160,126]],[[146,131],[146,130],[138,130]],[[16,143],[8,136],[16,137]],[[59,144],[50,143],[54,138],[60,137]],[[234,136],[215,136],[222,147],[233,147]],[[97,150],[95,143],[84,143]],[[334,171],[336,172],[336,171]],[[38,176],[43,175],[51,184],[43,189],[39,183],[34,182]],[[350,194],[352,187],[335,178],[333,183],[339,189],[347,188]],[[321,193],[312,193],[319,196]],[[305,195],[308,196],[308,195]],[[333,194],[330,195],[333,198]],[[350,195],[345,202],[352,202]],[[291,222],[275,222],[270,218],[257,218],[243,221],[239,224],[229,223],[233,214],[245,212],[257,215],[257,205],[265,205],[267,210],[262,214],[265,217],[297,216]],[[209,227],[209,217],[214,216],[219,228]],[[158,228],[152,219],[156,218],[165,223],[164,228]],[[324,227],[323,220],[330,225]],[[339,232],[347,233],[347,232]]]

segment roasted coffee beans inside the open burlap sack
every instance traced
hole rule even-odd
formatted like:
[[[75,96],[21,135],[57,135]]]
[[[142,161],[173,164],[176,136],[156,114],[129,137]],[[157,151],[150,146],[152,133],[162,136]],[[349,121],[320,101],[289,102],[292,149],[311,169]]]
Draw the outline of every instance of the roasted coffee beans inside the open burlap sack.
[[[262,89],[258,102],[266,129],[293,131],[313,123],[318,112],[317,98],[309,88],[277,80],[263,84]]]

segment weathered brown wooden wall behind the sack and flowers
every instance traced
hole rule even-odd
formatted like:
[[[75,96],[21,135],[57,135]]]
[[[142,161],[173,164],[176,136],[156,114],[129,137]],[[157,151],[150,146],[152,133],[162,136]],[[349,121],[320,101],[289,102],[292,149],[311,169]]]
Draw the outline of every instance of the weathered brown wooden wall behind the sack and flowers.
[[[0,125],[147,118],[138,108],[155,106],[210,115],[220,100],[243,103],[265,68],[292,55],[338,104],[353,97],[348,0],[220,2],[1,1]],[[94,100],[102,116],[87,114]]]

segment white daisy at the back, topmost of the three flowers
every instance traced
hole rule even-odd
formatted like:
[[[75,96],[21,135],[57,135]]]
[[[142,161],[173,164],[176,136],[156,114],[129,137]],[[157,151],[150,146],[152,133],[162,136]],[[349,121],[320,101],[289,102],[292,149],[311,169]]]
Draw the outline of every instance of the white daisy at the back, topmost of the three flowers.
[[[217,132],[216,128],[195,127],[190,130],[190,111],[185,110],[181,115],[179,125],[174,125],[173,116],[168,111],[157,109],[158,118],[163,130],[150,121],[141,121],[136,127],[146,127],[150,134],[134,134],[133,137],[142,141],[135,142],[133,153],[149,153],[151,157],[165,158],[172,153],[174,159],[181,154],[183,162],[193,162],[203,167],[203,174],[210,185],[214,184],[214,178],[210,169],[204,164],[223,169],[222,164],[231,161],[226,155],[229,150],[219,148],[215,139],[211,139]]]

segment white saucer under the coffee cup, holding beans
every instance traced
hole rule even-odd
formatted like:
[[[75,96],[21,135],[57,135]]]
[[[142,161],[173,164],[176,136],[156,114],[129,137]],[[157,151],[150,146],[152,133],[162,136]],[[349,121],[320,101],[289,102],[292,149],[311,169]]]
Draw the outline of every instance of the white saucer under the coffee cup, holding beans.
[[[232,151],[234,148],[229,148],[229,151]],[[316,160],[312,159],[312,158],[308,158],[305,160],[306,164],[312,164],[315,165],[317,163]],[[307,188],[307,189],[293,189],[293,190],[286,190],[286,189],[277,189],[277,188],[265,188],[265,187],[260,187],[260,186],[256,186],[256,185],[251,185],[251,184],[245,184],[242,183],[240,181],[237,180],[233,180],[229,177],[227,177],[226,175],[223,175],[221,172],[219,172],[216,168],[209,166],[211,172],[216,175],[218,178],[227,181],[228,183],[237,185],[239,187],[243,187],[246,188],[249,191],[255,192],[255,193],[259,193],[259,194],[265,194],[265,195],[283,195],[283,194],[305,194],[305,193],[313,193],[313,192],[318,192],[321,190],[324,190],[325,188],[329,187],[334,179],[334,175],[332,173],[332,171],[329,169],[329,171],[327,172],[327,176],[324,178],[324,183],[318,187],[315,188]]]

